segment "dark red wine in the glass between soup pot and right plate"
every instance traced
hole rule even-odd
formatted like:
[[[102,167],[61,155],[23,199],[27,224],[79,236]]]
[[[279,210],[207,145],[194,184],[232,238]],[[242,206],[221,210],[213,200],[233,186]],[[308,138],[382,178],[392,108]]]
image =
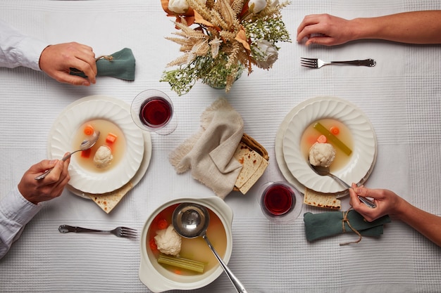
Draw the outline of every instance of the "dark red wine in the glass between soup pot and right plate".
[[[294,192],[286,185],[273,184],[263,191],[262,204],[267,214],[282,216],[294,208]]]

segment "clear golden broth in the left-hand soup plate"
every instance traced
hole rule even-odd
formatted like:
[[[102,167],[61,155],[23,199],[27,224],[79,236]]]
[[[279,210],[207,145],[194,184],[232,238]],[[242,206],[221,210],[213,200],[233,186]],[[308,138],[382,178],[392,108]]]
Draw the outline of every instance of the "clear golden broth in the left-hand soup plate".
[[[118,163],[122,160],[125,153],[125,137],[123,131],[113,124],[112,122],[105,119],[94,119],[89,122],[85,122],[77,129],[77,133],[73,139],[73,150],[77,150],[78,146],[82,141],[87,139],[87,135],[84,133],[84,129],[86,125],[92,125],[95,131],[100,131],[100,135],[97,143],[90,149],[89,157],[82,157],[81,152],[75,156],[75,160],[78,162],[80,167],[94,172],[104,172],[112,169],[118,165]],[[106,143],[106,136],[109,134],[115,134],[117,136],[116,141],[114,143]],[[98,148],[101,145],[107,145],[112,150],[113,160],[111,164],[106,168],[97,168],[94,164],[94,155],[97,152]]]

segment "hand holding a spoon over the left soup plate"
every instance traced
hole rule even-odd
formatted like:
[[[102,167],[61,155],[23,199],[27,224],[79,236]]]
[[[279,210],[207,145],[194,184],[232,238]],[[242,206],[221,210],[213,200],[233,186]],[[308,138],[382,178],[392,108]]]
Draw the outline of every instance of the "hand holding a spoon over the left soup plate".
[[[61,159],[44,159],[34,164],[25,172],[18,183],[18,190],[26,200],[37,204],[58,197],[70,180],[68,166],[70,159],[63,162]],[[47,169],[52,171],[42,180],[35,180],[35,176],[42,174]]]

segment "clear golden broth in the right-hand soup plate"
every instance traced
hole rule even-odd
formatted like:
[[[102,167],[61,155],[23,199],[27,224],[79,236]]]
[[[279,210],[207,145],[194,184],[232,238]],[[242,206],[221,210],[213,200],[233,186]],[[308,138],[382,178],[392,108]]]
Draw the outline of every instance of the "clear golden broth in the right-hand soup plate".
[[[336,135],[337,138],[339,138],[340,141],[342,141],[342,143],[347,145],[347,147],[352,150],[352,154],[354,153],[354,140],[352,138],[351,131],[349,131],[347,126],[344,125],[342,122],[335,119],[326,118],[311,123],[308,127],[306,127],[304,133],[302,134],[302,138],[300,141],[300,151],[304,156],[304,158],[306,159],[306,161],[308,161],[309,149],[314,143],[316,143],[318,136],[321,136],[321,133],[313,128],[313,125],[316,124],[316,122],[320,122],[328,130],[330,129],[331,126],[337,126],[340,129],[340,133]],[[328,141],[328,143],[333,145],[335,150],[334,162],[329,167],[329,170],[332,173],[346,166],[346,164],[351,159],[352,154],[346,155],[342,150],[340,150],[340,148],[338,148],[332,142]]]

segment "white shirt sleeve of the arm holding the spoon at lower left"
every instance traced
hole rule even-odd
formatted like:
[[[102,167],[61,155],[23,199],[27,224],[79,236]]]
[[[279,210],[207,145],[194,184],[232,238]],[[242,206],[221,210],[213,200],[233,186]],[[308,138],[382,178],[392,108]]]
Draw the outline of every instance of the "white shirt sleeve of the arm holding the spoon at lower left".
[[[40,209],[41,204],[33,204],[26,200],[18,191],[18,187],[0,200],[0,259]]]

